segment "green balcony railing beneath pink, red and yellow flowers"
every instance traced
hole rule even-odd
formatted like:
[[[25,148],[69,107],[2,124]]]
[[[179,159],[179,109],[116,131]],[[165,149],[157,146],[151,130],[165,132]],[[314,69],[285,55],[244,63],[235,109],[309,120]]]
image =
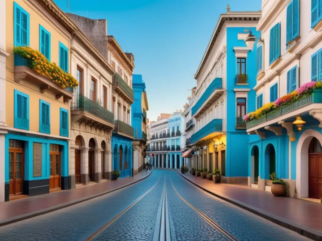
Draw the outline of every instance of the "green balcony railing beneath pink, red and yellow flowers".
[[[260,119],[253,119],[251,121],[248,121],[246,123],[246,128],[252,128],[254,126],[257,126],[259,124],[262,124],[266,121],[273,120],[275,118],[278,118],[282,115],[285,115],[289,112],[295,111],[299,108],[302,108],[303,106],[306,106],[311,103],[322,103],[322,92],[318,92],[320,90],[314,90],[313,94],[306,96],[304,98],[301,98],[289,105],[282,106],[280,108],[276,108],[275,110],[268,112],[260,117]]]

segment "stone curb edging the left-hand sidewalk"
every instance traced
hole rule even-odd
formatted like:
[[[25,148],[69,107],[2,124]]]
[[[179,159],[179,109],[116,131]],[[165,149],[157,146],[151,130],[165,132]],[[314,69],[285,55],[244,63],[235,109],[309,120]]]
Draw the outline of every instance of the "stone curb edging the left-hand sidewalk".
[[[40,216],[40,215],[43,215],[43,214],[46,214],[46,213],[50,213],[50,212],[53,212],[53,211],[56,211],[56,210],[59,210],[59,209],[67,208],[67,207],[70,207],[72,205],[75,205],[75,204],[78,204],[78,203],[81,203],[81,202],[84,202],[84,201],[88,201],[88,200],[93,199],[93,198],[103,196],[103,195],[108,194],[110,192],[115,192],[115,191],[117,191],[119,189],[128,187],[128,186],[130,186],[132,184],[138,183],[138,182],[146,179],[147,177],[149,177],[151,175],[152,171],[149,174],[147,174],[147,176],[145,176],[145,177],[143,177],[143,178],[141,178],[141,179],[139,179],[139,180],[137,180],[135,182],[125,184],[123,186],[111,189],[109,191],[100,192],[98,194],[94,194],[94,195],[91,195],[89,197],[80,198],[80,199],[77,199],[77,200],[74,200],[74,201],[65,202],[65,203],[62,203],[62,204],[59,204],[59,205],[55,205],[55,206],[52,206],[52,207],[49,207],[49,208],[46,208],[46,209],[42,209],[42,210],[38,210],[38,211],[34,211],[34,212],[30,212],[30,213],[26,213],[26,214],[22,214],[22,215],[19,215],[19,216],[16,216],[16,217],[12,217],[12,218],[9,218],[9,219],[2,220],[2,221],[0,221],[0,227],[6,226],[8,224],[16,223],[16,222],[19,222],[19,221],[23,221],[25,219],[34,218],[36,216]]]

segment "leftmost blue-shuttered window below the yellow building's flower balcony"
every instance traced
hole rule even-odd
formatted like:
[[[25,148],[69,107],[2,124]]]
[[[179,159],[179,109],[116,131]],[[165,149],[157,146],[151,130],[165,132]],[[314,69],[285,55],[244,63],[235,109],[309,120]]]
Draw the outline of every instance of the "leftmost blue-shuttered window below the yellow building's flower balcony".
[[[14,90],[14,128],[29,130],[29,95]]]

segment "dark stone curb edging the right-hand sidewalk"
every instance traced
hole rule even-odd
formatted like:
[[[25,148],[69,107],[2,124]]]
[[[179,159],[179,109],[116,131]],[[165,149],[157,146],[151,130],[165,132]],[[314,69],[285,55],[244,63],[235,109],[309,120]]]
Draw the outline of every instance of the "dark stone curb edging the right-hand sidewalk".
[[[184,178],[185,180],[187,180],[188,182],[194,184],[195,186],[199,187],[200,189],[204,190],[205,192],[208,192],[209,194],[217,197],[217,198],[220,198],[224,201],[227,201],[227,202],[230,202],[244,210],[247,210],[251,213],[254,213],[264,219],[267,219],[279,226],[282,226],[284,228],[288,228],[292,231],[295,231],[297,232],[298,234],[300,235],[303,235],[305,237],[308,237],[310,239],[313,239],[313,240],[316,240],[316,241],[322,241],[322,232],[316,230],[316,229],[313,229],[313,228],[309,228],[309,227],[306,227],[304,225],[301,225],[299,223],[296,223],[296,222],[293,222],[293,221],[290,221],[288,219],[284,219],[284,218],[281,218],[277,215],[274,215],[274,214],[271,214],[269,212],[266,212],[266,211],[263,211],[261,209],[258,209],[258,208],[255,208],[251,205],[248,205],[244,202],[241,202],[241,201],[237,201],[235,199],[232,199],[232,198],[229,198],[229,197],[226,197],[226,196],[221,196],[221,195],[218,195],[214,192],[211,192],[209,191],[208,189],[205,189],[204,187],[194,183],[193,181],[191,181],[190,179],[186,178],[185,176],[183,176],[182,174],[180,174],[179,172],[176,172],[178,175],[180,175],[182,178]]]

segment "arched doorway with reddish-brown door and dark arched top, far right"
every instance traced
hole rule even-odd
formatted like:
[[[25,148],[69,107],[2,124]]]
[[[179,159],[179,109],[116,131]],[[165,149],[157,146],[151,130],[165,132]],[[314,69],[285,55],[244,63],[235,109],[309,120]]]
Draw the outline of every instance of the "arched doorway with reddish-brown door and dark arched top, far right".
[[[308,146],[308,197],[322,198],[322,147],[315,137]]]

